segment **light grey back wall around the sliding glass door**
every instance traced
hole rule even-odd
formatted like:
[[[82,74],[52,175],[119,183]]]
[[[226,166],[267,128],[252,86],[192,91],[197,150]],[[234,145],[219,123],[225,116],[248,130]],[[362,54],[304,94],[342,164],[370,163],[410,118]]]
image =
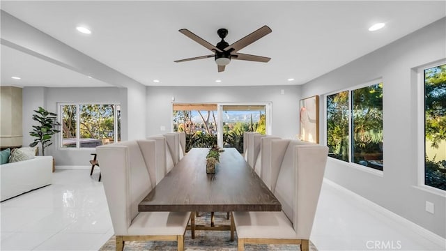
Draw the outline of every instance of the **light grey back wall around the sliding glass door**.
[[[280,94],[281,90],[284,94]],[[272,135],[295,138],[299,132],[300,86],[147,87],[147,136],[171,131],[175,102],[272,102]],[[165,126],[166,131],[160,127]]]

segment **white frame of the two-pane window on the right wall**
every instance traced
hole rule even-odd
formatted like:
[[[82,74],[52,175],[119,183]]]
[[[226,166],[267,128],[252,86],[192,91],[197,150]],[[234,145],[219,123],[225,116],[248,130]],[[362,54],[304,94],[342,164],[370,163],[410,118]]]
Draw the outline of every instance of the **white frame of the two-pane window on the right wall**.
[[[351,134],[352,133],[352,126],[353,126],[353,121],[352,121],[352,117],[353,117],[352,91],[355,91],[357,89],[362,89],[362,88],[367,87],[367,86],[372,86],[374,84],[380,84],[380,83],[383,83],[383,96],[384,96],[384,81],[383,81],[383,77],[378,77],[378,78],[373,79],[371,81],[364,82],[362,84],[357,84],[355,86],[351,86],[351,87],[348,87],[348,88],[338,89],[336,91],[331,91],[330,93],[325,93],[323,95],[323,100],[324,100],[324,105],[323,105],[323,114],[324,115],[323,116],[324,116],[324,121],[325,121],[325,124],[324,124],[325,128],[323,130],[323,141],[324,141],[323,144],[325,144],[325,146],[328,146],[328,132],[327,132],[327,129],[328,129],[328,117],[327,117],[328,109],[327,109],[327,98],[330,95],[341,93],[343,91],[348,91],[348,111],[347,111],[347,113],[348,113],[348,162],[346,162],[344,160],[339,160],[337,158],[332,158],[332,157],[329,157],[328,160],[329,161],[334,161],[334,162],[337,162],[337,163],[343,163],[344,165],[347,165],[348,167],[353,167],[353,168],[355,168],[357,170],[360,170],[362,172],[367,172],[367,173],[370,173],[370,174],[374,174],[376,176],[383,177],[383,175],[384,175],[384,165],[383,165],[383,171],[381,171],[381,170],[378,170],[378,169],[374,169],[372,167],[364,168],[363,165],[360,165],[358,163],[353,162],[353,160],[352,160],[352,158],[353,158],[353,156],[352,156],[352,147],[353,147],[352,146],[352,144],[353,144],[352,141],[353,141],[353,139],[352,139],[352,134]],[[383,112],[384,112],[384,107],[383,107]],[[384,118],[383,118],[383,128],[384,128]],[[383,138],[384,138],[384,132],[383,132]],[[383,152],[383,156],[384,156],[384,152]]]

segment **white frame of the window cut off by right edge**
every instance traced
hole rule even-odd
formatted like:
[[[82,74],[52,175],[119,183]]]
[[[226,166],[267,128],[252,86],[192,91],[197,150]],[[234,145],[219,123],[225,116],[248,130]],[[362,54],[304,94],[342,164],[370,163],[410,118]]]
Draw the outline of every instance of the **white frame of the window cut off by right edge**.
[[[446,59],[441,59],[433,63],[427,63],[423,66],[415,68],[416,73],[416,90],[417,90],[417,184],[415,188],[419,188],[435,195],[446,197],[446,190],[426,185],[426,162],[424,154],[426,153],[426,128],[425,128],[425,110],[424,110],[424,70],[442,66],[446,64]]]

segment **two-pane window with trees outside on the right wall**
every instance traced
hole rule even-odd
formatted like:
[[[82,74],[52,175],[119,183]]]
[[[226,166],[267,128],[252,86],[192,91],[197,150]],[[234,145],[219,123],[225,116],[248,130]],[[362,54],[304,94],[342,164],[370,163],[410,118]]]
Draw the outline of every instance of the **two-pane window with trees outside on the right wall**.
[[[327,96],[329,156],[383,171],[383,83]]]

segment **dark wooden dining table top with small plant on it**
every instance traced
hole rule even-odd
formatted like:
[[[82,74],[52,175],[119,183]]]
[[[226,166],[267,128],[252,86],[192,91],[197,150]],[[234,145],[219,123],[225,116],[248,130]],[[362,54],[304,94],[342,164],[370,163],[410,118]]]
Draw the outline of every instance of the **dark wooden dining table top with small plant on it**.
[[[224,149],[206,174],[209,149],[191,149],[139,203],[139,211],[281,211],[282,206],[236,149]]]

